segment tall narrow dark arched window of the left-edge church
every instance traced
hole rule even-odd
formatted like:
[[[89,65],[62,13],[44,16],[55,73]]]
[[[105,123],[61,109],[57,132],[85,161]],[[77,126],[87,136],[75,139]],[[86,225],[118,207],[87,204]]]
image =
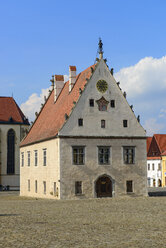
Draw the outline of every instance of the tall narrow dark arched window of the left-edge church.
[[[15,169],[15,132],[10,129],[7,134],[7,174],[14,174]]]

